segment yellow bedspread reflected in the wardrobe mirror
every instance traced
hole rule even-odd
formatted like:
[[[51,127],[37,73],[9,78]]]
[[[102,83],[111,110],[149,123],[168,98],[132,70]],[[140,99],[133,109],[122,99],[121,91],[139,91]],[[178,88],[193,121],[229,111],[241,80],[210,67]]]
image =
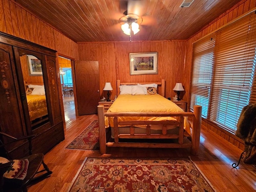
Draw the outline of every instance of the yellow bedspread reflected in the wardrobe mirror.
[[[27,95],[30,121],[48,114],[45,95]]]

